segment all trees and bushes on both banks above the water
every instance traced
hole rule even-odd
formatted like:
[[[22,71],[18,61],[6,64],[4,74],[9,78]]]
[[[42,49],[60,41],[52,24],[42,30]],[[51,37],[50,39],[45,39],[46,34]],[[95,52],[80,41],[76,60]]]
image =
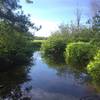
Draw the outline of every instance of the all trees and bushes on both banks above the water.
[[[26,1],[32,3],[31,0]],[[48,64],[52,65],[56,57],[60,62],[65,54],[69,65],[87,66],[93,79],[100,81],[100,50],[94,57],[100,49],[100,11],[88,23],[89,27],[81,25],[77,12],[77,25],[61,24],[49,38],[33,37],[29,28],[38,31],[41,26],[37,28],[31,23],[30,15],[24,14],[18,0],[0,0],[0,65],[11,66],[29,61],[34,48],[41,47],[42,53],[52,59],[46,58]],[[55,65],[58,62],[55,61]]]

